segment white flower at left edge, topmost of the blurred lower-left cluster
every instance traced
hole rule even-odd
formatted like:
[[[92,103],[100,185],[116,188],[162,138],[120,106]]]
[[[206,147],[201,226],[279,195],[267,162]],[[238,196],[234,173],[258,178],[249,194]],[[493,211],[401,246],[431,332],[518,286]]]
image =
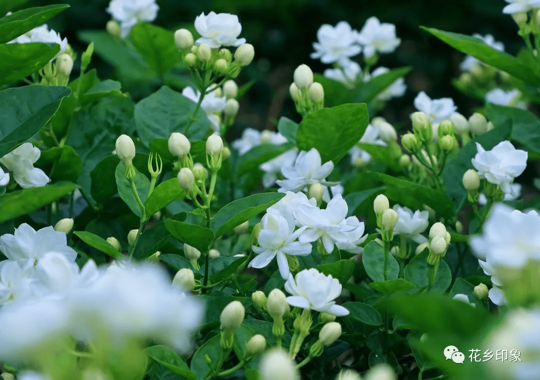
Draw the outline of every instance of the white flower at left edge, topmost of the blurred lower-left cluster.
[[[55,231],[51,226],[36,231],[26,223],[15,229],[14,234],[0,237],[0,251],[23,266],[37,264],[48,253],[64,255],[71,262],[77,257],[77,252],[68,246],[64,232]]]

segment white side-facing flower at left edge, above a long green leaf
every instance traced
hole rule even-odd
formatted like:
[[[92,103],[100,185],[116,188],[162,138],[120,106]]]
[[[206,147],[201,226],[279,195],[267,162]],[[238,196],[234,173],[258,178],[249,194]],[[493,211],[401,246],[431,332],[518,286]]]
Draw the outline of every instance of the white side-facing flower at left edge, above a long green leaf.
[[[40,187],[48,184],[50,179],[43,170],[33,166],[39,156],[41,156],[39,148],[25,142],[0,158],[0,163],[12,172],[15,182],[23,189]]]

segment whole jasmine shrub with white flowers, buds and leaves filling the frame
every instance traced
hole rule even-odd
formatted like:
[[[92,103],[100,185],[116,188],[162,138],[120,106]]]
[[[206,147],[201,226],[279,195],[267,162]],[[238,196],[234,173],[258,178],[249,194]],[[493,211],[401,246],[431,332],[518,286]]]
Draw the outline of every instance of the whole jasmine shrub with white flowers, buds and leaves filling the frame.
[[[517,57],[423,28],[467,54],[477,113],[421,92],[410,132],[376,116],[410,68],[377,67],[400,39],[370,17],[320,27],[300,123],[236,141],[237,16],[172,32],[112,0],[80,57],[43,24],[67,5],[1,18],[2,378],[540,378],[540,203],[515,182],[540,155],[540,2],[507,3]],[[169,86],[135,104],[93,53]]]

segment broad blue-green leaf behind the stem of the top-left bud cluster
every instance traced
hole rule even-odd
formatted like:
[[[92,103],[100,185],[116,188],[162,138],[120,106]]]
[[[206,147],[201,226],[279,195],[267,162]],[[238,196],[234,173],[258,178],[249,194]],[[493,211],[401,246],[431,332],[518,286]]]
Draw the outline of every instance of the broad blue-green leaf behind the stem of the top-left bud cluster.
[[[181,132],[190,140],[202,140],[210,122],[199,108],[188,132],[186,125],[196,104],[166,86],[137,103],[135,122],[140,141],[148,147],[153,139],[168,139],[173,132]]]

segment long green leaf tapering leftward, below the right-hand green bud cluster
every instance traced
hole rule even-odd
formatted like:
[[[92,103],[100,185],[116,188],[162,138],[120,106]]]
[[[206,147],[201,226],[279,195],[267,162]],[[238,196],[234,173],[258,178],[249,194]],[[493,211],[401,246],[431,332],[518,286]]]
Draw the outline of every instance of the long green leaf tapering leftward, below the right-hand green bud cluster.
[[[379,178],[387,185],[387,190],[384,194],[402,206],[418,210],[422,209],[423,204],[427,204],[443,217],[448,218],[454,216],[454,204],[442,191],[407,181],[407,179],[395,178],[382,173],[370,172],[370,174]]]

